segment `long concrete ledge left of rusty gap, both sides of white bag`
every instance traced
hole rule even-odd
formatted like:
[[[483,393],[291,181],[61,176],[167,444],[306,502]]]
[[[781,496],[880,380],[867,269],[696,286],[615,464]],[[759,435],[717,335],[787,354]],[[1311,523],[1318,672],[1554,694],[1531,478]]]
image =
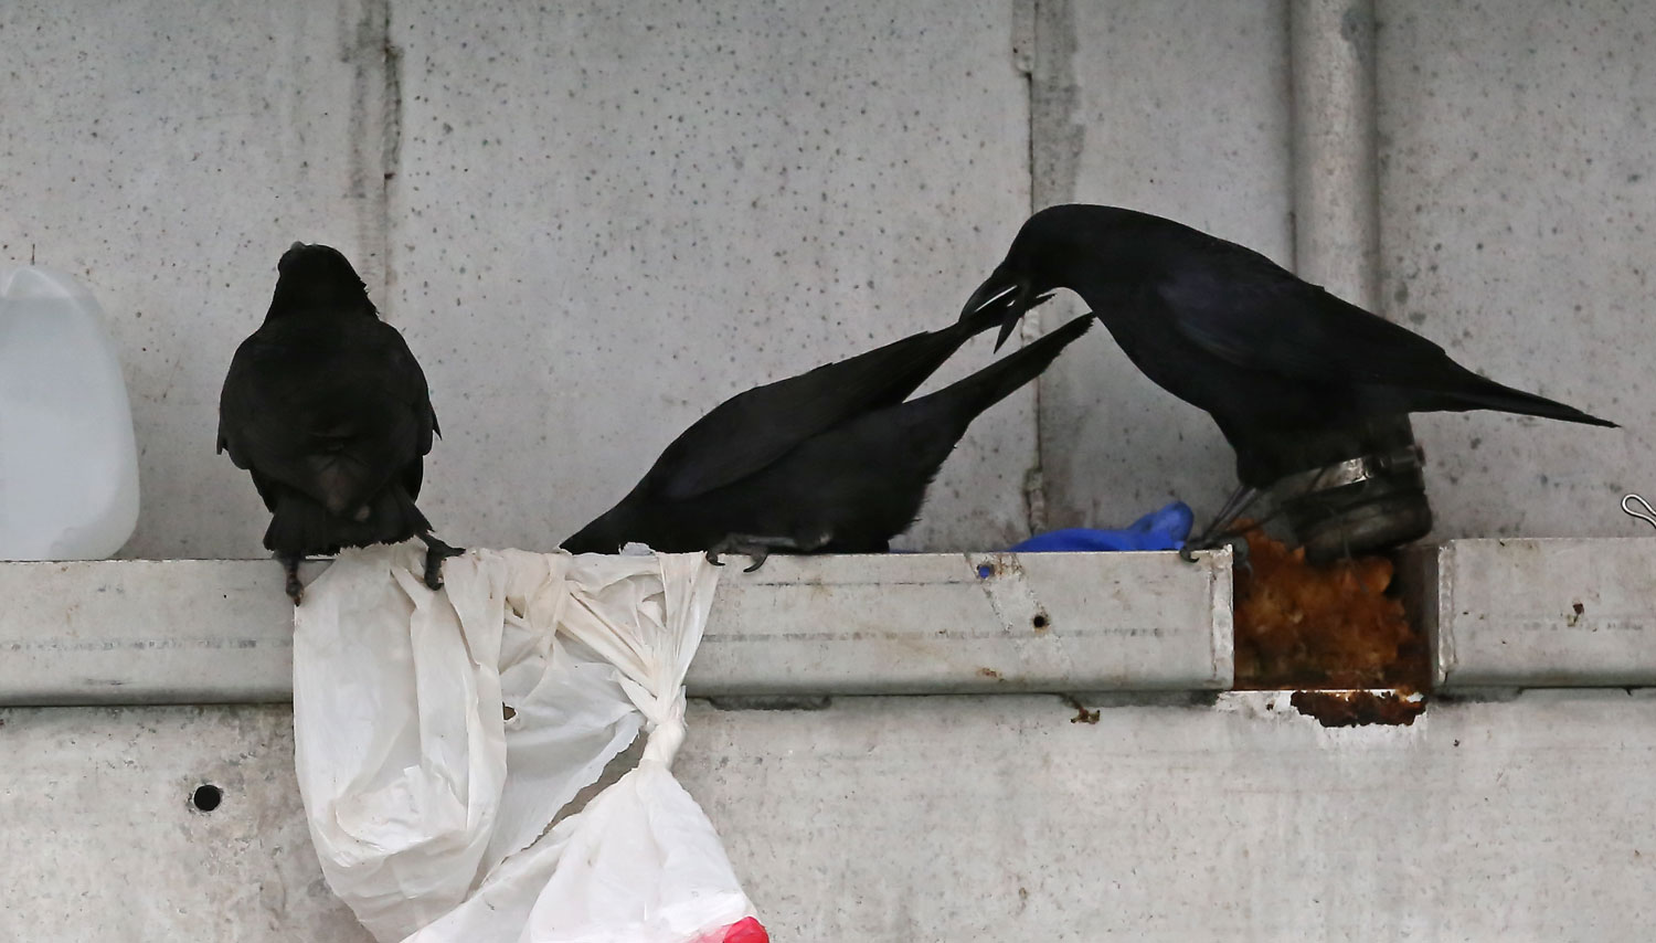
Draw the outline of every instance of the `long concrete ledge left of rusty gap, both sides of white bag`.
[[[272,560],[0,563],[0,704],[291,698],[291,607]],[[1222,689],[1230,635],[1229,550],[1197,563],[772,557],[757,573],[720,575],[687,686],[692,696]]]

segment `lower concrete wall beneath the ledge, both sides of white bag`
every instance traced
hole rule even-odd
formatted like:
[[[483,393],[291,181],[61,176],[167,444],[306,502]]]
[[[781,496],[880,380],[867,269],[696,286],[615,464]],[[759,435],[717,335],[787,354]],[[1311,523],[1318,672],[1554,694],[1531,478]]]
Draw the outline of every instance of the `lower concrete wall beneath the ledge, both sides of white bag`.
[[[1275,709],[1265,709],[1265,703]],[[1639,940],[1656,699],[1535,691],[1325,729],[1270,694],[694,703],[677,772],[775,940]],[[8,940],[368,936],[282,708],[0,711]],[[209,814],[204,782],[224,789]]]

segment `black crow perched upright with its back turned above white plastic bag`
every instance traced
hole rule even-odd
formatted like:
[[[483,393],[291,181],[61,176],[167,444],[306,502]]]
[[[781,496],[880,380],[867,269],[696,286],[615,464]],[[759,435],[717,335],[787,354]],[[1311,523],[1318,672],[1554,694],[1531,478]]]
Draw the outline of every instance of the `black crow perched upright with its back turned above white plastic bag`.
[[[270,509],[265,549],[303,598],[298,565],[339,547],[426,542],[426,585],[442,559],[414,507],[437,414],[407,343],[379,320],[338,250],[295,242],[277,264],[265,323],[235,350],[219,396],[219,451],[253,476]]]

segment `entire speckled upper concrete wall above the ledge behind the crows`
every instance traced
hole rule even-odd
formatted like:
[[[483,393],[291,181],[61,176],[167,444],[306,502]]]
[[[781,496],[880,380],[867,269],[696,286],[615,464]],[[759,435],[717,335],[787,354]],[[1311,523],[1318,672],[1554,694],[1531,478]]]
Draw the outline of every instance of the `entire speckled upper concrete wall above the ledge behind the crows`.
[[[952,320],[1032,206],[1136,206],[1292,262],[1288,13],[25,0],[0,8],[0,257],[109,312],[142,449],[126,555],[260,552],[212,438],[293,239],[351,254],[426,363],[440,529],[550,547],[724,396]],[[1656,459],[1656,13],[1383,0],[1378,22],[1386,313],[1630,424],[1418,419],[1437,535],[1628,534],[1615,499]],[[1206,514],[1230,486],[1206,416],[1105,335],[1038,416],[1023,393],[974,426],[907,545],[1018,537],[1037,439],[1052,525]]]

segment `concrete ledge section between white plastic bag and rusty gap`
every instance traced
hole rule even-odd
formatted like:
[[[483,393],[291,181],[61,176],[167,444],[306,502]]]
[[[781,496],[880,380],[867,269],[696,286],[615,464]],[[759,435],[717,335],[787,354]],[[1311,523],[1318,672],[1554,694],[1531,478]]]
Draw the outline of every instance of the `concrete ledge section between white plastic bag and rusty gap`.
[[[732,567],[734,570],[734,567]],[[772,557],[727,572],[692,694],[1224,689],[1230,550]]]

